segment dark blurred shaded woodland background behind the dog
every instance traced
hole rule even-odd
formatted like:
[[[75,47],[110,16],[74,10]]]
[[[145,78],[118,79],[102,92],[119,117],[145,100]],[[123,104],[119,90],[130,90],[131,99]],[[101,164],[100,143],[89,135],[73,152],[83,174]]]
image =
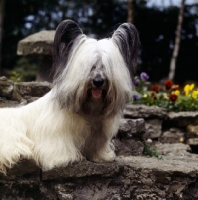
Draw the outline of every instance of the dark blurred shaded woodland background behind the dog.
[[[1,75],[17,72],[23,81],[35,79],[37,60],[16,55],[17,43],[40,30],[53,30],[64,19],[76,21],[85,34],[108,36],[127,21],[129,0],[0,0],[4,2]],[[134,0],[133,23],[140,40],[138,72],[150,81],[168,77],[180,0]],[[198,0],[186,0],[174,81],[198,81]]]

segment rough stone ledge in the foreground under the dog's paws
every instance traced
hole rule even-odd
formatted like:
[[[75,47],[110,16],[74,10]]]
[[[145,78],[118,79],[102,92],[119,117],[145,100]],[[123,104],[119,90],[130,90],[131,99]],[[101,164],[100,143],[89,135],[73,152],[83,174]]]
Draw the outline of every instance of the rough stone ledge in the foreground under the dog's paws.
[[[195,160],[158,160],[121,156],[113,163],[83,161],[41,172],[40,180],[23,176],[0,180],[1,199],[169,199],[198,198]]]

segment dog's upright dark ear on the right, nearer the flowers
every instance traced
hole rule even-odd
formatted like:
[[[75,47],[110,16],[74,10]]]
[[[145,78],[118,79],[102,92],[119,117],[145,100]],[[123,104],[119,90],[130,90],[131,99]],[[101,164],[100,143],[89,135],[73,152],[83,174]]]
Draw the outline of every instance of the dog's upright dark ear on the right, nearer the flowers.
[[[139,33],[131,23],[121,24],[112,36],[118,46],[124,61],[133,78],[138,62],[138,51],[140,47]]]

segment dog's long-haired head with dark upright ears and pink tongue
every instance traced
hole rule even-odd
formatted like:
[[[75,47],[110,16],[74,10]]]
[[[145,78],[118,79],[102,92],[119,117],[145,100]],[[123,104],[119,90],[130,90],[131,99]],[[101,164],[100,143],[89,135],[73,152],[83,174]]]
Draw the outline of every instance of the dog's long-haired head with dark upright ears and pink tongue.
[[[138,47],[131,23],[120,25],[111,38],[96,40],[74,21],[61,22],[54,38],[54,98],[72,112],[83,112],[86,104],[97,101],[102,114],[122,109],[132,91]]]

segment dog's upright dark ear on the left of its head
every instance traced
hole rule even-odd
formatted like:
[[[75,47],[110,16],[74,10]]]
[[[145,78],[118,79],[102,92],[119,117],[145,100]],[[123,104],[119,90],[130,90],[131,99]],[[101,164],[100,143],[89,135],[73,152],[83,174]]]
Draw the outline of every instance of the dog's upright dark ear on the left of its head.
[[[53,73],[58,74],[66,66],[72,45],[82,34],[81,28],[72,20],[64,20],[58,25],[54,37]]]

